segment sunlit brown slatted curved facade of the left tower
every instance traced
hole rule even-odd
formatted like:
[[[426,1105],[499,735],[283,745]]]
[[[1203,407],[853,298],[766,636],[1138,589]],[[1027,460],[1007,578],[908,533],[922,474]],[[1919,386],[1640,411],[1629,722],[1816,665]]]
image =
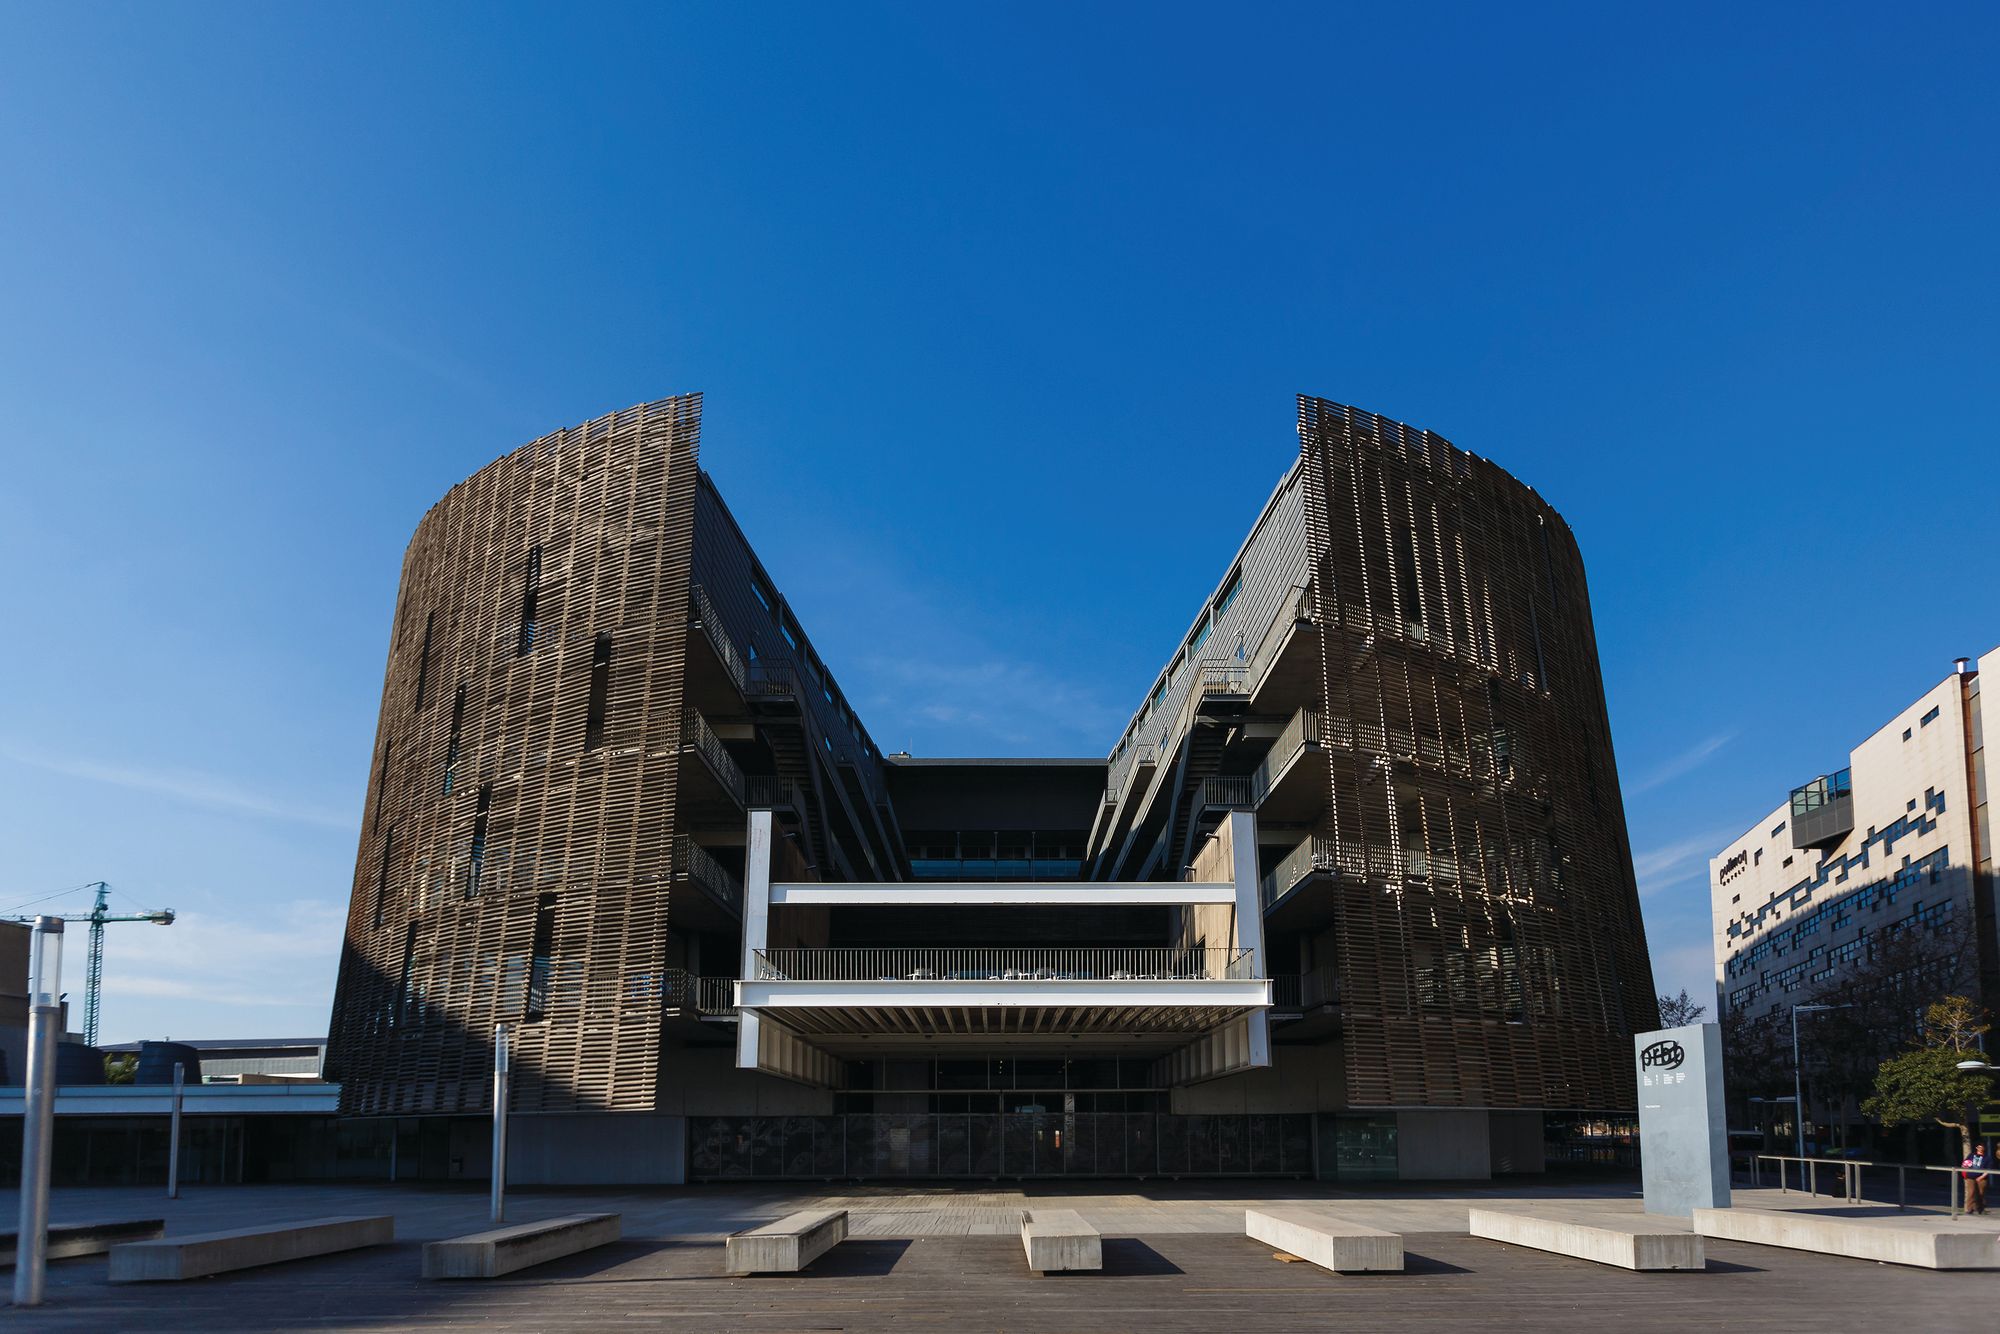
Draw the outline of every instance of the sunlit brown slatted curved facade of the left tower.
[[[520,1110],[654,1106],[662,1014],[634,996],[666,968],[698,442],[698,394],[642,404],[514,450],[418,526],[368,792],[394,830],[384,914],[370,830],[334,1006],[346,1112],[482,1110],[496,1022]],[[586,752],[600,632],[616,666]],[[546,1020],[520,1024],[536,970]]]

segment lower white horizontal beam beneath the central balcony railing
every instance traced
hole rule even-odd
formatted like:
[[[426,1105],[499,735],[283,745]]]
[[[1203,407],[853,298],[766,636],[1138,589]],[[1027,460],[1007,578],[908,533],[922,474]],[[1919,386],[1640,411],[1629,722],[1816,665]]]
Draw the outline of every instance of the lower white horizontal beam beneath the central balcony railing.
[[[1270,1006],[1268,980],[1068,980],[1022,982],[796,982],[756,980],[736,984],[736,1004],[746,1010],[788,1008],[1218,1008]]]

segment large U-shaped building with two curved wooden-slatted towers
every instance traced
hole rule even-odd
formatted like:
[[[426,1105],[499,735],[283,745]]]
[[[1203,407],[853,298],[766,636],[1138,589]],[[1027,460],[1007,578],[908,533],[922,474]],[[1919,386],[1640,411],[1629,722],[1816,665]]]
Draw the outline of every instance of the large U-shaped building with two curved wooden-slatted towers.
[[[1478,1178],[1628,1120],[1658,1012],[1576,542],[1298,408],[1090,760],[882,754],[700,396],[452,488],[392,624],[348,1124],[472,1136],[498,1024],[530,1182]]]

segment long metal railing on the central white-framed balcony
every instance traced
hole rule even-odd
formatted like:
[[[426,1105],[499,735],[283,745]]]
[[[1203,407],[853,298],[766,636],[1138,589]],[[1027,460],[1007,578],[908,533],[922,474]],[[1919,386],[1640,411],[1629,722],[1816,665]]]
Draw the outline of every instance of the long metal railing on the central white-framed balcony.
[[[884,948],[758,950],[760,982],[1242,982],[1252,950],[1226,948]]]

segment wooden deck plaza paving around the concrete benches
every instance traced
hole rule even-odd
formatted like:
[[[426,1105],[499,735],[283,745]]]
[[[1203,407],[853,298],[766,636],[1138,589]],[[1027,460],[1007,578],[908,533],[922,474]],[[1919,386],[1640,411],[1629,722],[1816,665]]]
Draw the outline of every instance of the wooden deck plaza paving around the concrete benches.
[[[1744,1202],[1782,1206],[1776,1192]],[[1282,1264],[1242,1210],[1326,1208],[1404,1234],[1404,1274]],[[8,1330],[1992,1330],[2000,1274],[1926,1272],[1708,1244],[1700,1274],[1632,1274],[1466,1234],[1468,1206],[1632,1216],[1628,1184],[1062,1184],[1050,1188],[522,1190],[510,1220],[614,1210],[624,1238],[478,1284],[424,1282],[422,1244],[476,1232],[480,1190],[426,1186],[58,1190],[56,1220],[164,1214],[168,1236],[324,1214],[394,1214],[396,1242],[172,1286],[110,1286],[102,1256],[50,1264],[48,1304]],[[1792,1194],[1788,1206],[1842,1208]],[[1104,1270],[1034,1278],[1020,1210],[1074,1208],[1104,1234]],[[0,1210],[12,1212],[12,1192]],[[802,1208],[852,1210],[852,1236],[804,1274],[728,1278],[724,1236]],[[1894,1214],[1894,1210],[1888,1210]],[[1964,1226],[1986,1226],[1986,1220]],[[2000,1224],[1996,1224],[2000,1226]]]

